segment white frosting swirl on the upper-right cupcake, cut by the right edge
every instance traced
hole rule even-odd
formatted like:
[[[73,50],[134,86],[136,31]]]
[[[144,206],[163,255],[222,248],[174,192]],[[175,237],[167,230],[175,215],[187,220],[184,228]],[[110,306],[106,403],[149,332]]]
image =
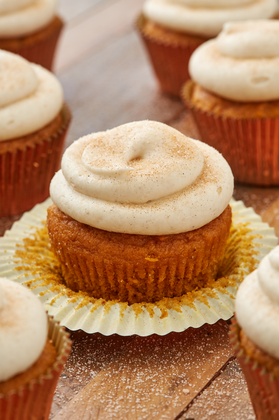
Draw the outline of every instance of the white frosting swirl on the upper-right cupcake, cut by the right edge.
[[[279,21],[227,22],[216,39],[194,51],[189,73],[202,87],[226,99],[279,99]]]

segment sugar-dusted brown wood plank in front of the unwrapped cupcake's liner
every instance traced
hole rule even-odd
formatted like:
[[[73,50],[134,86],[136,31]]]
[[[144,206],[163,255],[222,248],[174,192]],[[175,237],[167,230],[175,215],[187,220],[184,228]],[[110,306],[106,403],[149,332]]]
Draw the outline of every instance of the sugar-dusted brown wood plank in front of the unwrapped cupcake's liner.
[[[137,337],[54,420],[173,420],[233,356],[227,331],[220,320],[183,333]]]

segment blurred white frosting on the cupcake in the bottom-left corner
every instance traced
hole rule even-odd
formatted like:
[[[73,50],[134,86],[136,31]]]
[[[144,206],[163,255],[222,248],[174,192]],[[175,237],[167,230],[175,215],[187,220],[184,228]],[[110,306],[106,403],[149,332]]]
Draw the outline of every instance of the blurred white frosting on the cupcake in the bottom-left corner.
[[[47,317],[35,295],[0,278],[0,381],[24,372],[39,358],[47,338]]]

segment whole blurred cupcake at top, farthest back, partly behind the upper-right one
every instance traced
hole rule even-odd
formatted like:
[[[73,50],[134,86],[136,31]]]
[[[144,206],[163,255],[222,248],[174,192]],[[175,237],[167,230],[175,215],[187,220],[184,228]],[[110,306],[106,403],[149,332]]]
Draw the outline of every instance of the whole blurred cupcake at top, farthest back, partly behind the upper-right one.
[[[230,21],[271,18],[277,0],[146,0],[137,27],[163,92],[178,96],[191,54]]]

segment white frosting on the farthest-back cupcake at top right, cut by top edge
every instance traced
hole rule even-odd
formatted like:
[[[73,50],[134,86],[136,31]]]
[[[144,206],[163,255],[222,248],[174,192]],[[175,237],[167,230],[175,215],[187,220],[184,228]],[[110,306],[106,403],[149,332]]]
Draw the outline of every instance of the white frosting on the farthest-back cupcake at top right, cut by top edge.
[[[175,31],[216,37],[227,21],[271,18],[277,0],[146,0],[143,13]]]

